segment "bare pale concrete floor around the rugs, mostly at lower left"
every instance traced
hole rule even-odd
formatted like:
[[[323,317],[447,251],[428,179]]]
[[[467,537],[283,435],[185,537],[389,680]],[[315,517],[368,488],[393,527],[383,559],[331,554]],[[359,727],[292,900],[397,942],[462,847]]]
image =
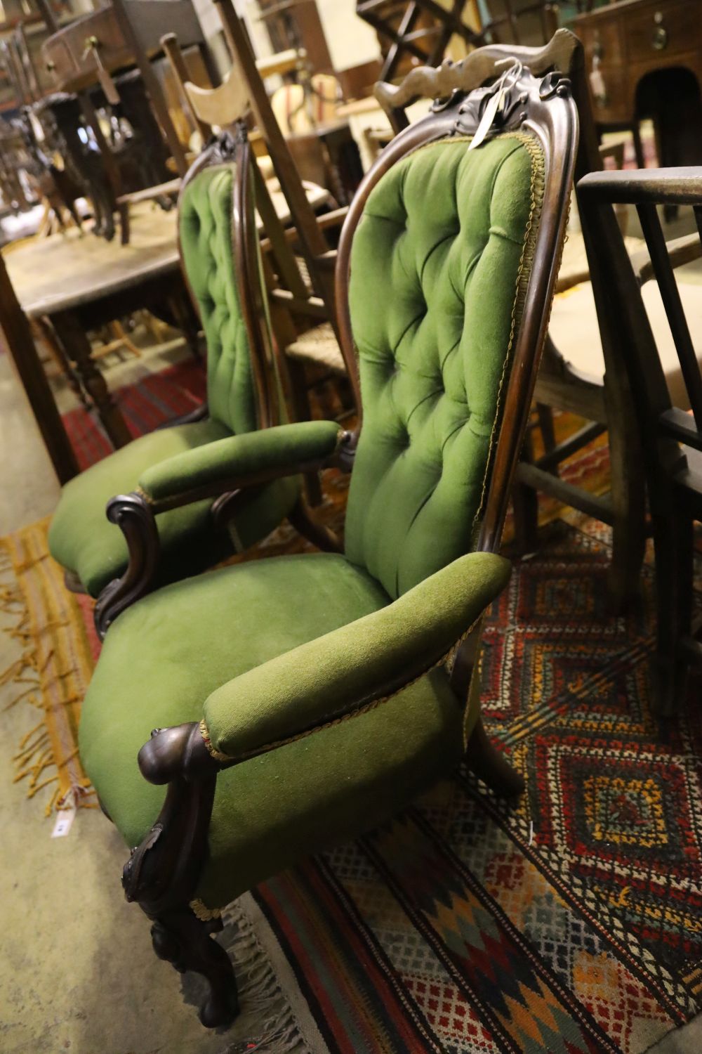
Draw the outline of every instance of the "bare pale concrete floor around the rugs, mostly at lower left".
[[[163,352],[167,362],[181,354]],[[154,360],[116,367],[111,386]],[[73,396],[63,391],[62,408]],[[24,393],[0,354],[0,533],[46,515],[59,487]],[[1,585],[1,583],[0,583]],[[0,629],[13,618],[0,610]],[[0,672],[19,655],[0,631]],[[99,812],[81,811],[66,838],[22,784],[9,782],[20,737],[37,722],[25,703],[11,709],[0,686],[0,1051],[3,1054],[224,1054],[246,1049],[245,1033],[212,1035],[199,1024],[173,969],[156,959],[148,925],[124,901],[125,847]],[[269,1048],[256,1048],[263,1054]],[[702,1015],[650,1054],[702,1050]],[[398,1052],[400,1054],[400,1052]]]

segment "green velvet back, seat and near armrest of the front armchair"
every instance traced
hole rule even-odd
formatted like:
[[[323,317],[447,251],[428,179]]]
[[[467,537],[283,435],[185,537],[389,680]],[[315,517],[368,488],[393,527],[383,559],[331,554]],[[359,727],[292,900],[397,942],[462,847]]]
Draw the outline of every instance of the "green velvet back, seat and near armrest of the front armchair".
[[[346,554],[210,572],[147,597],[111,629],[80,749],[128,843],[165,794],[137,765],[153,727],[204,711],[227,753],[284,738],[298,720],[375,690],[404,649],[415,661],[449,646],[504,584],[497,557],[459,562],[458,578],[447,565],[470,550],[480,514],[538,222],[538,164],[519,135],[472,153],[442,142],[390,169],[369,196],[352,254],[364,423]],[[429,575],[444,567],[439,588]],[[405,596],[419,583],[421,603]],[[464,714],[441,664],[378,706],[225,769],[196,895],[220,905],[380,822],[450,768],[477,714],[477,692]]]

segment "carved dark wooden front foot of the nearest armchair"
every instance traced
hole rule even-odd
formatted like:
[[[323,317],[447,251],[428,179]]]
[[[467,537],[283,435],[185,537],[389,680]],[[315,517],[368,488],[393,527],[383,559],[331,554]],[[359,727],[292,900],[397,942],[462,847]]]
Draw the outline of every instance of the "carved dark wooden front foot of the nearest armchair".
[[[181,974],[194,970],[207,981],[209,991],[199,1012],[207,1029],[226,1028],[239,1014],[232,960],[212,936],[221,929],[221,919],[203,922],[189,907],[164,911],[152,925],[152,942],[159,959],[171,962]]]

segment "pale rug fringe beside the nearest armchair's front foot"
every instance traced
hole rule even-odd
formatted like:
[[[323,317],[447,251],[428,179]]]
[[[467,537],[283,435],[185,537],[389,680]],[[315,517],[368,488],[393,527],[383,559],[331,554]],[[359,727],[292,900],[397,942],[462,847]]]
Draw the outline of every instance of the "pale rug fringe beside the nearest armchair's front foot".
[[[298,1023],[252,920],[235,901],[225,910],[224,921],[236,926],[227,951],[237,972],[242,1016],[250,1014],[256,1022],[254,1035],[227,1048],[227,1054],[306,1054]]]

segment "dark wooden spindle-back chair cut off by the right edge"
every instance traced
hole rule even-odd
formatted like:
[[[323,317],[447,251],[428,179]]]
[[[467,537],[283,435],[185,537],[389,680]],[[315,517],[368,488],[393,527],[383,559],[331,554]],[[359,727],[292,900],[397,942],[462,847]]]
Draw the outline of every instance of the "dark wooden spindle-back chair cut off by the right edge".
[[[702,169],[593,173],[580,180],[579,196],[585,234],[600,258],[593,287],[603,346],[628,374],[640,432],[656,553],[656,705],[669,715],[685,701],[690,664],[702,662],[694,587],[694,525],[702,521],[702,347],[694,345],[674,272],[679,262],[702,255]],[[636,206],[649,257],[639,266],[622,245],[616,204]],[[699,235],[671,252],[658,206],[693,206]],[[651,278],[684,382],[675,402],[641,295]],[[683,399],[689,412],[680,406]]]

